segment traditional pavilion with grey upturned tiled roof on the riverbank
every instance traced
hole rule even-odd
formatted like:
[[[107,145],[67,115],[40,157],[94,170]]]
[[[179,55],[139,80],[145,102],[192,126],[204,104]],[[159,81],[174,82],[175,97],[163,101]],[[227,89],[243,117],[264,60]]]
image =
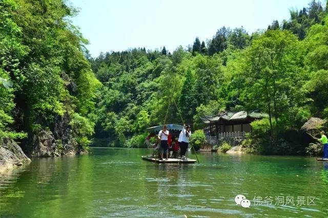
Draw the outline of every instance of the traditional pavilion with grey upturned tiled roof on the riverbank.
[[[268,117],[267,114],[259,112],[247,113],[224,112],[216,116],[202,117],[205,124],[204,133],[208,140],[219,140],[227,137],[244,137],[245,133],[251,132],[251,122]],[[213,141],[212,141],[213,142]]]

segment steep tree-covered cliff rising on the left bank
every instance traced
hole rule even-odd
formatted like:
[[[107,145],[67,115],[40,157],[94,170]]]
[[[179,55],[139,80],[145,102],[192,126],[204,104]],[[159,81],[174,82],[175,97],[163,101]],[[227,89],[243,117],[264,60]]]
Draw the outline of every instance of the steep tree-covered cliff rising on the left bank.
[[[75,13],[61,0],[0,0],[0,139],[28,155],[73,154],[93,134],[101,83],[68,19]]]

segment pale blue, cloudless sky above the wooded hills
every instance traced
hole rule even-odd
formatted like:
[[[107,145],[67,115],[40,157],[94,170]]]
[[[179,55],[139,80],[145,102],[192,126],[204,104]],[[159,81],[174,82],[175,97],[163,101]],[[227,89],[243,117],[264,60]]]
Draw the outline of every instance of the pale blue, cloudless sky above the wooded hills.
[[[289,9],[307,7],[310,0],[70,0],[79,9],[71,18],[100,52],[145,47],[173,52],[195,38],[211,39],[222,27],[243,26],[250,34],[273,20],[289,19]]]

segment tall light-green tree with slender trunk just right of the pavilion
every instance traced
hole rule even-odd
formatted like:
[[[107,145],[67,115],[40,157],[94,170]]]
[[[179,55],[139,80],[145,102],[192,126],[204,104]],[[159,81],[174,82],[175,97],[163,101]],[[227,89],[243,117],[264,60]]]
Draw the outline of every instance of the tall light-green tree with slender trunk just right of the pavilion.
[[[269,114],[272,140],[276,141],[279,118],[294,106],[300,74],[295,74],[295,36],[289,31],[268,30],[254,40],[247,54],[247,95],[250,107]],[[292,110],[291,110],[292,111]],[[280,126],[281,127],[281,126]]]

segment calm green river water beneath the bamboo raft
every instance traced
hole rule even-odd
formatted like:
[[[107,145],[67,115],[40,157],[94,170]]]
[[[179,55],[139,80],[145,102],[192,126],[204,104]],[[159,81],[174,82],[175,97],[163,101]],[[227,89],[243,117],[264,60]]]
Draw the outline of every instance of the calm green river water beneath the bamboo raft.
[[[90,151],[0,176],[0,217],[328,216],[328,163],[315,158],[199,152],[200,164],[177,165],[143,161],[145,149]]]

